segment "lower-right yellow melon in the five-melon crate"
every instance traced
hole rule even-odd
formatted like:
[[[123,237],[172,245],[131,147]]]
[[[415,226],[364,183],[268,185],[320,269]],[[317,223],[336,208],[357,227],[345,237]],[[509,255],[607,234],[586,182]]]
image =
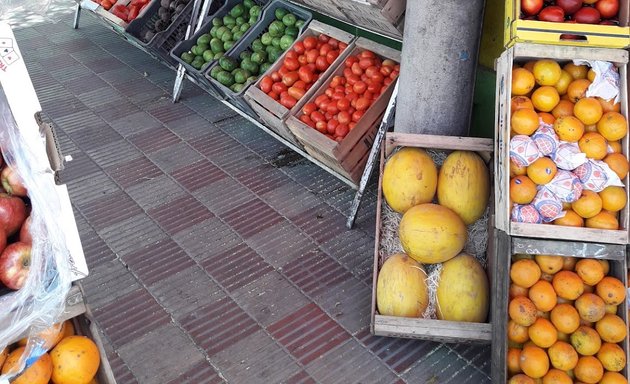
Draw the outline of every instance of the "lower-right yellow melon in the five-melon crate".
[[[436,299],[438,319],[485,322],[490,304],[486,271],[477,259],[460,253],[442,264]]]

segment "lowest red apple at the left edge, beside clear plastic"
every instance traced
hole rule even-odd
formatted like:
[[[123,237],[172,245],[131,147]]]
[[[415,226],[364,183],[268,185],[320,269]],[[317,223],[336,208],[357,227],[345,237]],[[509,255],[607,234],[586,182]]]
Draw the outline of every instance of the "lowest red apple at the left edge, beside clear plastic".
[[[7,288],[24,286],[31,266],[31,246],[22,242],[9,244],[0,255],[0,281]]]

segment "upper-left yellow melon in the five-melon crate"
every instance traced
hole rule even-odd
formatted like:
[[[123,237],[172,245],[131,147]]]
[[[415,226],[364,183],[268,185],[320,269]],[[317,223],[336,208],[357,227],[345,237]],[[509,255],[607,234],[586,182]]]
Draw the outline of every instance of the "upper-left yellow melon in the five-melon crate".
[[[405,147],[393,154],[383,169],[383,196],[396,212],[433,200],[438,172],[421,148]]]

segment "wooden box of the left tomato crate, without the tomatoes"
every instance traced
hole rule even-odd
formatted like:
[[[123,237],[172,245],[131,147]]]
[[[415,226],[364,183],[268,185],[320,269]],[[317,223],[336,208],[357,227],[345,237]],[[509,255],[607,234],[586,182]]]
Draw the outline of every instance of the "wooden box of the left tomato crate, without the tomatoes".
[[[300,99],[297,104],[290,110],[284,107],[282,104],[267,96],[260,89],[260,82],[263,77],[267,74],[273,73],[280,69],[284,63],[284,58],[287,55],[287,52],[290,52],[293,49],[293,45],[289,47],[283,54],[280,56],[278,60],[267,70],[267,72],[258,78],[258,81],[254,83],[253,86],[249,87],[245,92],[245,101],[252,107],[252,109],[256,112],[258,117],[269,127],[272,131],[276,132],[278,135],[292,142],[293,144],[301,147],[302,145],[299,141],[293,136],[293,133],[287,127],[285,120],[289,113],[297,113],[299,112],[306,101],[311,98],[311,96],[317,92],[322,83],[330,76],[330,74],[335,70],[338,63],[343,63],[348,53],[352,50],[352,41],[354,41],[354,35],[345,31],[342,31],[338,28],[332,27],[330,25],[321,23],[319,21],[313,20],[310,22],[302,36],[298,41],[304,41],[304,39],[308,36],[319,36],[320,34],[325,34],[332,38],[335,38],[341,42],[348,44],[348,47],[340,53],[339,57],[328,67],[326,71],[324,71],[319,79],[313,84],[311,89],[308,90]]]

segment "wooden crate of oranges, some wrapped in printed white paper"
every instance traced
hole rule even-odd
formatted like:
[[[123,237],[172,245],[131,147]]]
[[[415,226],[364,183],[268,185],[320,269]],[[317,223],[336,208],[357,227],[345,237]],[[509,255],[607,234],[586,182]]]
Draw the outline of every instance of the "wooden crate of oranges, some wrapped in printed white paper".
[[[628,52],[517,44],[497,62],[496,226],[628,243]]]

